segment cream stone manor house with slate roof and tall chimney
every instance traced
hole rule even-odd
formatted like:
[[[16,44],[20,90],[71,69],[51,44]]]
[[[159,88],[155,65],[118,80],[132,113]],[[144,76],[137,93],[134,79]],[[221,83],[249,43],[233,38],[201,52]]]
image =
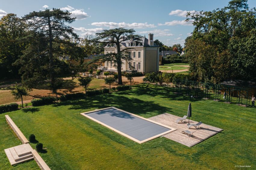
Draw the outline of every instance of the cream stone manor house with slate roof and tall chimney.
[[[141,43],[134,43],[130,40],[123,41],[120,43],[120,49],[123,48],[133,48],[130,49],[132,60],[129,62],[122,61],[122,71],[131,70],[130,65],[133,65],[135,70],[142,72],[143,74],[148,72],[158,72],[159,71],[159,46],[154,44],[153,34],[148,34],[148,39],[143,37]],[[104,47],[104,53],[117,53],[116,44],[108,44]],[[116,71],[117,68],[114,67],[113,62],[105,62],[105,69],[107,71]]]

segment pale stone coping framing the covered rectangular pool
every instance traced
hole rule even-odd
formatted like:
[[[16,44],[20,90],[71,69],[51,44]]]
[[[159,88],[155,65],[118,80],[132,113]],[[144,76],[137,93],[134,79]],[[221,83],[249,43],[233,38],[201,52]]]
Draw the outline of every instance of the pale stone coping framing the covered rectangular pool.
[[[146,120],[146,121],[148,121],[148,122],[155,123],[155,124],[157,124],[157,125],[159,125],[159,126],[163,126],[163,127],[168,128],[168,129],[170,129],[170,130],[168,130],[168,131],[166,131],[166,132],[163,132],[163,133],[160,133],[160,134],[158,134],[158,135],[152,136],[152,137],[150,137],[150,138],[147,138],[147,139],[145,139],[145,140],[143,140],[143,141],[139,141],[139,140],[136,139],[136,138],[133,138],[133,137],[131,137],[131,136],[129,136],[129,135],[127,135],[127,134],[125,134],[125,133],[123,133],[123,132],[117,130],[117,129],[114,129],[114,128],[111,127],[111,126],[106,125],[105,123],[102,123],[102,122],[100,122],[100,121],[98,121],[98,120],[96,120],[96,119],[94,119],[94,118],[92,118],[92,117],[86,115],[86,114],[89,114],[89,113],[93,113],[93,112],[97,112],[97,111],[102,111],[102,110],[107,110],[107,109],[111,109],[111,108],[112,108],[112,109],[116,109],[116,110],[118,110],[118,111],[122,111],[122,112],[124,112],[124,113],[126,113],[126,114],[130,114],[130,115],[132,115],[132,116],[138,117],[138,118],[140,118],[140,119]],[[113,130],[114,132],[119,133],[120,135],[125,136],[126,138],[129,138],[129,139],[131,139],[131,140],[133,140],[133,141],[139,143],[139,144],[142,144],[142,143],[144,143],[144,142],[147,142],[147,141],[150,141],[150,140],[152,140],[152,139],[158,138],[158,137],[160,137],[160,136],[162,136],[162,135],[165,135],[165,134],[167,134],[167,133],[170,133],[170,132],[173,132],[173,131],[176,130],[175,128],[172,128],[172,127],[170,127],[170,126],[166,126],[166,125],[164,125],[164,124],[155,122],[155,121],[153,121],[153,120],[149,120],[149,119],[147,119],[147,118],[138,116],[138,115],[136,115],[136,114],[133,114],[133,113],[130,113],[130,112],[127,112],[127,111],[124,111],[124,110],[121,110],[121,109],[118,109],[118,108],[115,108],[115,107],[108,107],[108,108],[103,108],[103,109],[97,109],[97,110],[94,110],[94,111],[88,111],[88,112],[84,112],[84,113],[80,113],[80,114],[83,115],[83,116],[85,116],[85,117],[87,117],[87,118],[89,118],[89,119],[91,119],[91,120],[93,120],[93,121],[95,121],[95,122],[97,122],[97,123],[99,123],[99,124],[101,124],[101,125],[103,125],[103,126],[105,126],[105,127],[107,127],[107,128],[109,128],[109,129],[111,129],[111,130]]]

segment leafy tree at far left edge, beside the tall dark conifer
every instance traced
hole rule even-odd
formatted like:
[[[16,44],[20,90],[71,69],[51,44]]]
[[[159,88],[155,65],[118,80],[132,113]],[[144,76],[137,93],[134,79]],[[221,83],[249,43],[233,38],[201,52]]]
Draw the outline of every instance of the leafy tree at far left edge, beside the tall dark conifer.
[[[25,43],[21,40],[27,31],[26,23],[16,14],[7,14],[0,20],[0,79],[18,76],[18,66],[12,64],[22,55]]]

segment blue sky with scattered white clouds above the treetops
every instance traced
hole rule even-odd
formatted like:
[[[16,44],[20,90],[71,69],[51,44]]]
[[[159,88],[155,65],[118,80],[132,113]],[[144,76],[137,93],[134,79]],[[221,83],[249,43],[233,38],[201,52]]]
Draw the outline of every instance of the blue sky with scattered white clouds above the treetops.
[[[124,3],[125,2],[125,3]],[[172,46],[184,40],[193,26],[183,22],[186,11],[212,11],[227,6],[229,0],[0,0],[0,17],[6,13],[22,17],[45,8],[68,10],[77,20],[70,24],[80,36],[95,34],[102,29],[133,28],[140,35],[151,32],[154,40]],[[248,0],[249,8],[256,7],[255,0]]]

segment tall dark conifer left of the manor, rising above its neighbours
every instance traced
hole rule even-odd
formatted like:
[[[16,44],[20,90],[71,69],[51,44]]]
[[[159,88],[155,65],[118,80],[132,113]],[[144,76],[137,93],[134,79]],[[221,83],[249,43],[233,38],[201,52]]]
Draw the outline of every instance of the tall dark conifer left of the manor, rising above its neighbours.
[[[33,86],[36,82],[51,79],[51,88],[55,86],[59,76],[64,72],[60,61],[62,56],[77,57],[78,36],[73,28],[66,25],[75,21],[68,11],[53,8],[44,11],[33,11],[23,17],[26,20],[30,34],[26,37],[29,45],[20,60],[23,82]],[[72,55],[71,55],[72,54]],[[67,64],[67,63],[66,63]],[[54,90],[54,89],[52,89]]]

